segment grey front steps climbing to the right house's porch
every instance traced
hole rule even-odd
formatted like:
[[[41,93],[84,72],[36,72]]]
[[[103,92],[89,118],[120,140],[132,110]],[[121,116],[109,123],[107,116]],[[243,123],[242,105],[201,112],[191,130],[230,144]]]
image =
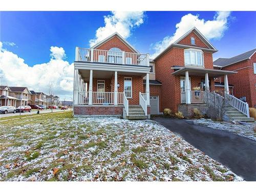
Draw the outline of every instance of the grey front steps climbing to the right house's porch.
[[[227,116],[229,121],[254,121],[254,118],[248,118],[236,108],[233,108],[233,106],[227,106],[225,115]]]

